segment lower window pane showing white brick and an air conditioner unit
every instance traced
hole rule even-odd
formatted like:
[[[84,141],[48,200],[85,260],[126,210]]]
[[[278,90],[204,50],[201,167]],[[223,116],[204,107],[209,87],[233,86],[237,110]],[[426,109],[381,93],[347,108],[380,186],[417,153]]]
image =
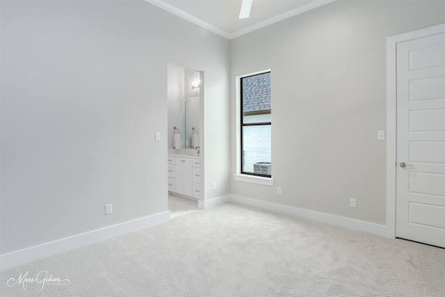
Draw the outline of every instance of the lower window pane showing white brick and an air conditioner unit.
[[[242,172],[271,175],[270,125],[243,127]]]

